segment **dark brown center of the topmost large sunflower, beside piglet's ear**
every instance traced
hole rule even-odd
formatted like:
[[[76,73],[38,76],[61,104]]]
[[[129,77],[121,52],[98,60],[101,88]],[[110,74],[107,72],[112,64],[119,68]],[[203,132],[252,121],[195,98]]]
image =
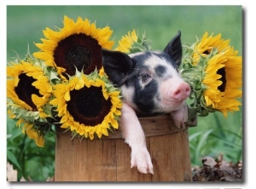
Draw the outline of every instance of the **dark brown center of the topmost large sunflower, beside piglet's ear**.
[[[102,67],[102,47],[95,38],[83,33],[70,35],[61,40],[54,50],[54,60],[57,66],[66,69],[73,76],[76,67],[90,74]]]

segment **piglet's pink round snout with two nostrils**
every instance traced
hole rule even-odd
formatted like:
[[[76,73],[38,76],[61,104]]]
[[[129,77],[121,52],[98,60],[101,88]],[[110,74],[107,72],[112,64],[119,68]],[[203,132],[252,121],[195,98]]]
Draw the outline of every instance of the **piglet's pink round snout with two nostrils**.
[[[172,92],[172,99],[181,101],[186,100],[190,94],[190,87],[188,83],[180,83],[177,85],[177,88]]]

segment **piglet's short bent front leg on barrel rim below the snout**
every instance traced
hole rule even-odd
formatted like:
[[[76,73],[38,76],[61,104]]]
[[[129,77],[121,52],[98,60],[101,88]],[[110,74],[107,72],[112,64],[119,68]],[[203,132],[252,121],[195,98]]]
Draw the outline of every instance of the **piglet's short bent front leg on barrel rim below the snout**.
[[[187,106],[187,104],[184,104],[177,111],[171,112],[171,116],[172,116],[174,124],[176,125],[176,127],[178,129],[185,128],[186,123],[188,121],[188,106]]]

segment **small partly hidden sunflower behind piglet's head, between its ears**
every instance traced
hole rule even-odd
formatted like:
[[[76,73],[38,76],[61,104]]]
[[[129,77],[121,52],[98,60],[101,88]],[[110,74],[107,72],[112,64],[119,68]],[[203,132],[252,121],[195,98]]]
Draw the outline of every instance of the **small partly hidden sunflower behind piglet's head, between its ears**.
[[[126,54],[131,54],[150,49],[150,41],[146,39],[145,34],[143,34],[143,37],[141,38],[138,37],[137,32],[133,30],[128,31],[127,35],[121,37],[118,47],[114,50],[118,50]]]

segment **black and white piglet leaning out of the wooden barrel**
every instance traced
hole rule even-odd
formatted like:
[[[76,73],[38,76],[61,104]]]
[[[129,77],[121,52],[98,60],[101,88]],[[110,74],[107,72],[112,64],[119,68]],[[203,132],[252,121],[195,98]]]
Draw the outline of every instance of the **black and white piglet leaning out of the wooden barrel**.
[[[185,127],[188,109],[185,100],[190,87],[178,73],[182,59],[181,32],[163,52],[124,54],[102,50],[103,66],[109,79],[124,98],[119,129],[131,146],[131,168],[154,174],[146,139],[137,115],[170,113],[176,126]]]

